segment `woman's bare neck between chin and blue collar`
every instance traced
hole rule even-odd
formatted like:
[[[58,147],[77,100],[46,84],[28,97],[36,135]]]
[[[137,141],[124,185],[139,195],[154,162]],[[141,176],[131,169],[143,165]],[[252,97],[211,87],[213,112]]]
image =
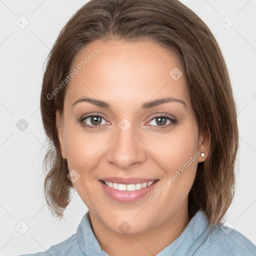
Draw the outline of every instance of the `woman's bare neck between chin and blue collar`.
[[[89,212],[89,215],[100,248],[109,256],[156,255],[173,242],[190,221],[187,203],[156,228],[134,234],[113,232],[91,212]]]

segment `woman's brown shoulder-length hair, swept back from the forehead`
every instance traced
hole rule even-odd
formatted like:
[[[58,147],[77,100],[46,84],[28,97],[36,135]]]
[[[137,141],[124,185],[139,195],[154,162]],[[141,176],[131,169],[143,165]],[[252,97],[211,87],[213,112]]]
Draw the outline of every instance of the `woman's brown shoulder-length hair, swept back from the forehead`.
[[[97,39],[111,38],[156,42],[179,56],[199,131],[205,128],[210,135],[209,154],[198,163],[189,192],[189,213],[192,208],[202,209],[210,224],[219,222],[233,198],[238,147],[235,103],[214,36],[178,0],[90,0],[60,31],[48,56],[40,97],[43,126],[51,144],[44,158],[49,169],[44,193],[52,214],[63,217],[73,187],[67,178],[67,161],[61,156],[55,125],[55,112],[63,112],[68,85],[51,99],[47,95],[70,72],[79,50]]]

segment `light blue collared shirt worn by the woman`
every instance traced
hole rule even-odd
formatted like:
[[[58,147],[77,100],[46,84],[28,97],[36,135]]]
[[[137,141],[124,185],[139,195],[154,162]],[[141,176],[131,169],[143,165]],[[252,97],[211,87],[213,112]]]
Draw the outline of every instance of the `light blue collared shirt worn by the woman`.
[[[52,245],[47,251],[20,256],[109,256],[101,250],[91,228],[88,211],[76,233]],[[198,210],[183,232],[156,256],[256,256],[256,246],[235,229],[221,224],[209,226],[206,215]],[[139,255],[138,255],[139,256]]]

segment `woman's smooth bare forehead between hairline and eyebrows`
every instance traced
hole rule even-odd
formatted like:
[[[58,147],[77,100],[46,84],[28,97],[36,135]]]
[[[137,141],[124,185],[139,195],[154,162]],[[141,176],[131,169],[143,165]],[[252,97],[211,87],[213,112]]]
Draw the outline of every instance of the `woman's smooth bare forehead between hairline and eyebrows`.
[[[190,103],[178,57],[153,42],[94,41],[76,55],[74,69],[65,93],[68,104],[85,96],[118,107],[167,96]],[[181,76],[174,79],[173,73]]]

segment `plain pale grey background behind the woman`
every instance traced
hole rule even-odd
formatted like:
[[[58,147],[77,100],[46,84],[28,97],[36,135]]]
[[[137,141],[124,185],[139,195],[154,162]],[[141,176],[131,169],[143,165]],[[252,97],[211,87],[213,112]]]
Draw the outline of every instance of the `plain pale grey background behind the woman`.
[[[65,220],[52,217],[45,204],[41,165],[46,144],[39,110],[45,58],[60,29],[85,2],[0,0],[1,255],[48,249],[73,234],[87,211],[75,190]],[[256,244],[256,1],[181,2],[208,25],[228,67],[238,113],[239,149],[236,193],[225,219],[226,225]],[[23,130],[17,127],[24,122],[21,118],[28,124]]]

